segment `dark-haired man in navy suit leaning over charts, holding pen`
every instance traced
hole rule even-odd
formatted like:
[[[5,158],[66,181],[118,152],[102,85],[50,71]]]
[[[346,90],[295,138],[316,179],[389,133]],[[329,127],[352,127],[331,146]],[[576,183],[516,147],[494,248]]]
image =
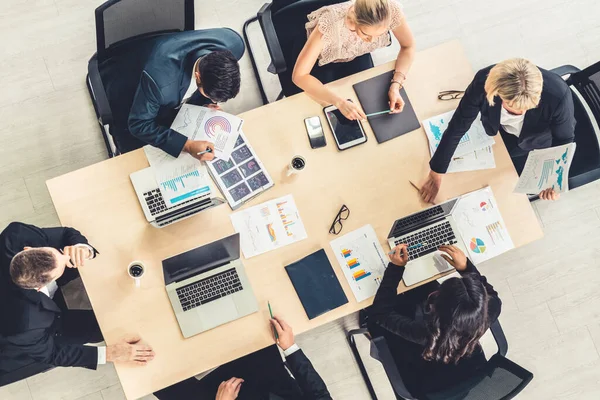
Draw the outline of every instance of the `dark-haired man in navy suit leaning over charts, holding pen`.
[[[170,129],[183,102],[218,108],[240,90],[238,60],[242,38],[231,29],[205,29],[161,35],[113,57],[103,66],[103,81],[113,108],[110,127],[122,152],[145,144],[177,157],[211,147]],[[111,65],[114,64],[114,65]],[[210,153],[202,160],[212,159]]]

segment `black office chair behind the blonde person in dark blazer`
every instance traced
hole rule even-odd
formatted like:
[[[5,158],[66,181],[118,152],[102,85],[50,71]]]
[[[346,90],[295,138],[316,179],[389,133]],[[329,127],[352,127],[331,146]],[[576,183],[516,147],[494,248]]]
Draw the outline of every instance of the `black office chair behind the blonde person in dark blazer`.
[[[569,170],[569,190],[600,179],[600,62],[583,71],[572,65],[552,70],[566,78],[575,105],[577,149]]]

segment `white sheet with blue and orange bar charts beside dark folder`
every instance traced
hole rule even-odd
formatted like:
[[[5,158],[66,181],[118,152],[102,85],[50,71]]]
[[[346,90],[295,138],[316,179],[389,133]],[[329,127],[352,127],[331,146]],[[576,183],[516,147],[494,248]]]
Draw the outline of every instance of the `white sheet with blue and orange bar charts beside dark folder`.
[[[375,296],[389,261],[373,227],[365,225],[329,244],[356,301]]]

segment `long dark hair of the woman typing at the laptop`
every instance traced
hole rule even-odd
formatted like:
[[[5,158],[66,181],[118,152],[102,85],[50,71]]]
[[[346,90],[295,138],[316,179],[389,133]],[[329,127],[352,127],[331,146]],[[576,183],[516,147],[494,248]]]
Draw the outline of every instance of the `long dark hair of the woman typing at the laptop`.
[[[473,353],[489,327],[488,294],[475,274],[444,281],[430,295],[427,308],[429,337],[423,358],[428,361],[458,363]]]

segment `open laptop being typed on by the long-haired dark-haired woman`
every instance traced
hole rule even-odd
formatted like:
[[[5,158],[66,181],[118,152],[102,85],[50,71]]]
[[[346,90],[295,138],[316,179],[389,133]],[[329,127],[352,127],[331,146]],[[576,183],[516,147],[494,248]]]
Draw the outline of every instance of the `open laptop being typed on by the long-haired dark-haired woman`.
[[[393,249],[400,243],[406,243],[409,247],[427,243],[408,251],[408,264],[403,276],[406,286],[412,286],[434,275],[452,270],[452,266],[439,256],[440,252],[437,250],[439,246],[453,244],[467,254],[452,218],[452,212],[458,201],[458,198],[448,200],[394,222],[388,235],[390,248]]]

